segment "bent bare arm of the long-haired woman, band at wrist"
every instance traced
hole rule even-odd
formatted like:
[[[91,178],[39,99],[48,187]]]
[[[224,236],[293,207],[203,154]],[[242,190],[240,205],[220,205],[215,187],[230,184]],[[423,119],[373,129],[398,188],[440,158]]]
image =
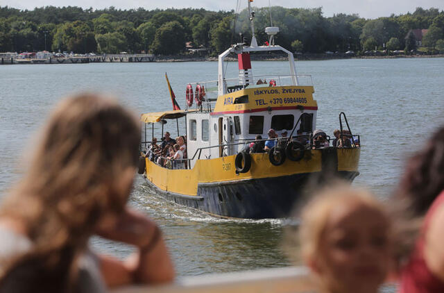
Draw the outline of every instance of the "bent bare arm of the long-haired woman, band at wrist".
[[[108,286],[173,281],[173,263],[162,233],[157,225],[142,213],[126,208],[114,224],[99,228],[97,234],[134,245],[138,249],[123,262],[110,256],[99,256],[101,272]]]

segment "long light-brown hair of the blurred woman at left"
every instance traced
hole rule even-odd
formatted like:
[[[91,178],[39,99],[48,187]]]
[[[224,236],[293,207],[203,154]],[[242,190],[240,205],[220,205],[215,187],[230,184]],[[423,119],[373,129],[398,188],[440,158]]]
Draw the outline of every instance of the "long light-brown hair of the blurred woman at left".
[[[117,101],[97,94],[62,101],[46,122],[26,175],[0,210],[0,216],[24,223],[33,242],[15,267],[31,266],[42,280],[51,271],[64,274],[46,284],[62,291],[99,219],[123,210],[126,198],[116,184],[123,171],[136,167],[139,143],[137,118]]]

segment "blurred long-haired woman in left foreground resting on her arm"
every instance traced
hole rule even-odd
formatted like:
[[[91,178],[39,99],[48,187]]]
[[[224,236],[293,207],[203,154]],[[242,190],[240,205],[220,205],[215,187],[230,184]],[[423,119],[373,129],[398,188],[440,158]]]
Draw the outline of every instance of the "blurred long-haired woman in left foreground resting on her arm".
[[[28,172],[0,210],[0,292],[106,292],[172,281],[153,221],[126,207],[140,129],[116,101],[83,94],[53,111]],[[97,256],[92,235],[136,246],[126,261]]]

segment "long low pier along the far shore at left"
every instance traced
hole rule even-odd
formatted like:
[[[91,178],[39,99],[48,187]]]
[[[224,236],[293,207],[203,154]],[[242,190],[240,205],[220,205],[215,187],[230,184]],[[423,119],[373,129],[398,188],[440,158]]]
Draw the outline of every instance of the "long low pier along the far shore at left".
[[[16,58],[16,56],[1,56],[0,65],[12,64],[82,64],[110,62],[154,62],[153,54],[103,54],[96,56],[66,56],[38,58]]]

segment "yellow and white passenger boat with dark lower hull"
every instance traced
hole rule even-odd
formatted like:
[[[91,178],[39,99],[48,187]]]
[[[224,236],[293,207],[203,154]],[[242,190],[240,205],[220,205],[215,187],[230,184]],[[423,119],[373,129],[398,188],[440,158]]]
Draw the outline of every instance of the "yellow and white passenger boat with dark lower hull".
[[[144,157],[139,168],[148,183],[167,199],[218,217],[285,217],[311,176],[325,178],[327,174],[352,181],[359,174],[360,147],[354,139],[348,148],[314,144],[318,104],[313,98],[311,76],[296,74],[293,53],[273,43],[277,31],[266,28],[270,35],[267,46],[257,46],[253,33],[250,46],[235,44],[221,53],[216,81],[187,86],[185,110],[141,116],[146,124],[145,148],[150,144],[148,133],[154,132],[149,124],[162,124],[162,137],[167,119],[177,120],[178,133],[180,125],[185,130],[186,169],[162,167],[150,159],[153,156]],[[287,54],[289,75],[253,75],[250,53],[269,51]],[[238,56],[238,78],[225,77],[223,61],[230,54]],[[259,80],[268,83],[257,84]],[[217,91],[208,90],[212,86]],[[341,136],[349,140],[343,131],[341,118],[345,122],[346,118],[342,114]],[[348,135],[359,141],[359,135],[352,135],[348,123],[346,126]],[[270,128],[278,133],[288,131],[289,135],[269,153],[245,151],[256,135],[266,138]],[[301,137],[307,137],[307,144],[299,142]]]

